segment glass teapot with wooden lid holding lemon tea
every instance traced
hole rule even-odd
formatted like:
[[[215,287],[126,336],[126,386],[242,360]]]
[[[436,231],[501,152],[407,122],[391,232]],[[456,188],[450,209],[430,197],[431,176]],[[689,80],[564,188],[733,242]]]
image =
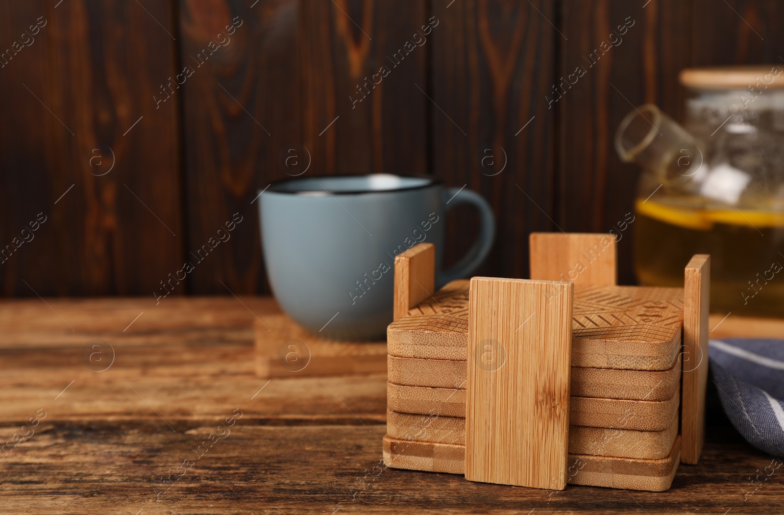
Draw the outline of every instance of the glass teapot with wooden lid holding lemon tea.
[[[716,312],[784,315],[784,66],[681,71],[684,127],[646,104],[615,133],[644,168],[634,267],[642,285],[682,286],[711,256]]]

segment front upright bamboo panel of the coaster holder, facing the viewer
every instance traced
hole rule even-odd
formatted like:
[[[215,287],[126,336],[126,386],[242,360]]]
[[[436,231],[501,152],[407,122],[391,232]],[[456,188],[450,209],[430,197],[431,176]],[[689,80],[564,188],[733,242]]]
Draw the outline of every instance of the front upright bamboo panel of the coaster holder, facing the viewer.
[[[573,285],[474,277],[470,288],[466,479],[563,490]]]

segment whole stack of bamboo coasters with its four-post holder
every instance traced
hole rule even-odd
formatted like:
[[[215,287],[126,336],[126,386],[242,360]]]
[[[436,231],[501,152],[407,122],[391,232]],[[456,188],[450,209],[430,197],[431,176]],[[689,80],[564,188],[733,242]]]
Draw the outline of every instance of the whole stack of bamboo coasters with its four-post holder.
[[[690,335],[690,339],[696,337],[698,348],[691,354],[682,354],[684,289],[615,285],[615,240],[606,234],[532,234],[531,276],[536,281],[475,277],[473,283],[453,281],[434,292],[431,254],[432,245],[418,245],[396,262],[395,321],[387,330],[387,436],[383,456],[388,466],[465,473],[466,478],[474,481],[540,488],[559,489],[568,482],[666,490],[681,461],[681,368],[687,362],[691,365],[689,379],[696,383],[691,386],[695,395],[684,397],[691,428],[687,435],[684,421],[684,444],[688,442],[688,452],[695,455],[688,462],[699,459],[705,388],[702,375],[706,367],[700,366],[702,356],[699,363],[696,358],[704,348],[700,346],[700,336],[704,339],[706,332],[700,334],[698,323],[696,335]],[[690,267],[702,271],[707,267],[704,258],[695,257],[697,262],[692,260]],[[705,301],[693,303],[699,322],[706,319],[701,311],[705,315],[707,312],[706,296],[700,296],[705,290],[699,286],[705,286],[707,281],[700,282],[699,274],[697,279],[696,299]],[[530,332],[532,325],[535,329],[546,324],[562,328],[563,324],[559,326],[557,322],[559,317],[569,326],[570,345],[553,350],[556,354],[551,353],[550,358],[536,357],[543,362],[540,368],[555,377],[555,383],[559,376],[565,378],[565,397],[561,401],[555,401],[557,388],[552,396],[543,396],[540,390],[546,386],[540,385],[547,383],[544,376],[524,383],[526,376],[535,375],[538,363],[524,369],[528,372],[514,371],[515,364],[526,365],[526,360],[531,359],[518,357],[516,344],[509,348],[508,344],[477,335],[485,325],[494,325],[496,318],[503,318],[502,304],[509,304],[483,304],[483,292],[495,291],[492,288],[550,288],[551,292],[541,297],[546,303],[535,310],[525,307],[535,298],[514,297],[512,304],[521,306],[512,306],[512,310],[521,314],[510,326],[509,334],[514,338],[518,333]],[[688,315],[691,323],[694,317]],[[558,339],[560,333],[548,334],[550,341]],[[564,363],[565,368],[561,366]],[[528,403],[533,410],[528,415],[536,419],[543,418],[543,414],[553,417],[552,431],[539,440],[550,445],[545,454],[554,456],[554,461],[550,459],[550,466],[543,466],[542,462],[534,467],[546,470],[546,477],[510,478],[506,470],[493,470],[499,466],[503,469],[499,465],[503,456],[477,457],[485,452],[475,442],[477,431],[481,436],[485,430],[482,424],[488,425],[483,419],[485,412],[499,410],[492,398],[477,401],[477,388],[471,386],[471,377],[474,384],[477,379],[470,372],[476,372],[477,366],[484,370],[490,366],[491,372],[506,367],[507,372],[516,374],[507,379],[511,386],[504,386],[511,391],[501,392],[503,405],[512,402],[506,399],[507,394],[510,398],[512,394],[519,395],[521,402],[530,397],[536,401]],[[543,398],[553,401],[543,403]],[[540,405],[547,403],[553,405]],[[466,405],[470,422],[467,434]],[[561,412],[564,406],[567,411],[559,415],[559,406]],[[489,416],[495,416],[498,422],[497,413]],[[560,420],[564,424],[558,416],[563,417]],[[510,420],[509,425],[514,433],[517,420]],[[510,432],[501,429],[499,432],[496,428],[496,440]],[[564,442],[559,450],[561,433]],[[539,452],[535,443],[524,442],[523,447],[527,451],[522,459]],[[503,446],[502,450],[508,452]],[[562,461],[559,452],[565,458]],[[481,459],[485,463],[477,464]]]

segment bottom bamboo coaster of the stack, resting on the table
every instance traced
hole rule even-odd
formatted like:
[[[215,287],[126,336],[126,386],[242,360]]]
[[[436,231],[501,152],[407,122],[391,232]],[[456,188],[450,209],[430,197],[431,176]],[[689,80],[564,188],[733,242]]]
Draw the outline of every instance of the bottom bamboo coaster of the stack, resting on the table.
[[[465,472],[465,447],[383,437],[383,460],[396,469],[459,474]],[[569,484],[626,490],[665,491],[673,483],[681,459],[681,438],[663,459],[625,459],[568,455]]]

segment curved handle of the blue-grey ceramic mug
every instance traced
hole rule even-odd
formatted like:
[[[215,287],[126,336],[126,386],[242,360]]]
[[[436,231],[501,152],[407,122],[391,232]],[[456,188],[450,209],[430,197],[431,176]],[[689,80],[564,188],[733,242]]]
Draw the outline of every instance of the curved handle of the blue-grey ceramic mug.
[[[451,199],[451,200],[447,200]],[[473,205],[479,212],[479,234],[474,245],[466,252],[452,268],[444,270],[437,277],[436,288],[455,279],[466,277],[474,271],[488,256],[492,242],[495,239],[495,217],[492,209],[480,194],[475,191],[461,190],[460,188],[447,188],[444,191],[445,213],[461,204]]]

